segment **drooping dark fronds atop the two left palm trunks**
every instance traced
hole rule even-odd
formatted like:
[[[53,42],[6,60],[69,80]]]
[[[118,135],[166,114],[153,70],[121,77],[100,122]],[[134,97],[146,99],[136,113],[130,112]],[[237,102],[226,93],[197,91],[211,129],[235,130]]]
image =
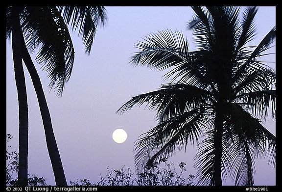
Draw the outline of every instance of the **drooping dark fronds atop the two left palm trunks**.
[[[11,7],[6,8],[6,37],[11,36]],[[49,87],[62,95],[71,77],[74,47],[68,26],[82,36],[86,53],[90,54],[98,24],[107,19],[104,7],[93,6],[26,6],[21,7],[20,21],[26,46],[34,52],[50,78]]]

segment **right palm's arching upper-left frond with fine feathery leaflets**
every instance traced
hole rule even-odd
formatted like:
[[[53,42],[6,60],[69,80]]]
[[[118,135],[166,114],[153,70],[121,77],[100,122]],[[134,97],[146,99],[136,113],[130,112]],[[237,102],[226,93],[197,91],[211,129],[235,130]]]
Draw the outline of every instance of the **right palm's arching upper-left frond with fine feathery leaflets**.
[[[205,63],[198,55],[202,52],[188,52],[188,41],[181,32],[171,30],[151,33],[144,38],[143,42],[136,44],[141,51],[131,57],[131,63],[145,65],[152,69],[171,69],[164,77],[173,77],[171,82],[179,78],[188,84],[193,84],[201,88],[213,86],[205,77]],[[207,58],[207,57],[206,57]]]

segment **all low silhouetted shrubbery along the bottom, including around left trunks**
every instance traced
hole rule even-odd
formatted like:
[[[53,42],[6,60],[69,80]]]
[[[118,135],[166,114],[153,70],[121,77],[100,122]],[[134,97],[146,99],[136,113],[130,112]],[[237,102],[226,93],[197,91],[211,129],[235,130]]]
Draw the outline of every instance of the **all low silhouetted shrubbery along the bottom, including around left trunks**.
[[[6,136],[6,143],[12,139],[10,134]],[[6,185],[17,185],[18,173],[18,152],[15,150],[10,151],[11,146],[6,149]],[[153,165],[144,166],[142,170],[136,169],[135,173],[131,169],[125,168],[123,165],[120,169],[107,168],[108,173],[106,177],[101,175],[100,180],[96,183],[91,183],[89,179],[80,179],[71,181],[72,186],[176,186],[176,185],[193,185],[192,180],[194,175],[189,175],[188,178],[183,176],[186,172],[185,163],[179,164],[180,171],[175,170],[173,163],[167,163],[167,158],[162,160],[164,166],[160,168],[160,164],[154,163]],[[136,177],[134,175],[136,174]],[[38,177],[34,174],[28,175],[29,186],[47,186],[46,178]]]

